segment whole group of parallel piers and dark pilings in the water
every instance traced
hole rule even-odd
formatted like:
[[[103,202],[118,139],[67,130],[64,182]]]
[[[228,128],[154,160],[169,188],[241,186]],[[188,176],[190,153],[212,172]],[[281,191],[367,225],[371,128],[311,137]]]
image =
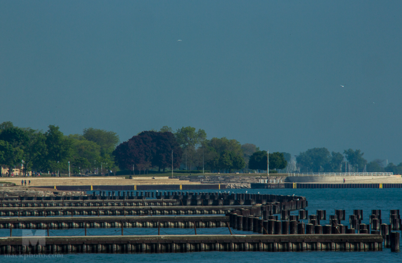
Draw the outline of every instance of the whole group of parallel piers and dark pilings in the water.
[[[10,229],[10,237],[0,238],[0,253],[380,251],[383,241],[385,247],[399,249],[399,233],[392,232],[402,226],[399,210],[391,210],[389,225],[382,223],[380,210],[372,210],[370,233],[370,225],[361,222],[361,210],[349,217],[350,227],[342,224],[345,210],[335,210],[330,224],[320,225],[326,211],[308,215],[307,205],[302,196],[221,192],[101,191],[79,196],[0,197],[0,228]],[[298,215],[290,214],[296,210]],[[87,228],[101,227],[121,228],[121,236],[86,235]],[[133,227],[157,228],[158,235],[125,235],[128,230],[124,228]],[[163,227],[194,228],[194,235],[159,235]],[[228,233],[196,234],[197,228],[209,227],[225,227]],[[83,228],[85,235],[49,233],[68,228]],[[47,234],[15,237],[13,229],[43,229]]]

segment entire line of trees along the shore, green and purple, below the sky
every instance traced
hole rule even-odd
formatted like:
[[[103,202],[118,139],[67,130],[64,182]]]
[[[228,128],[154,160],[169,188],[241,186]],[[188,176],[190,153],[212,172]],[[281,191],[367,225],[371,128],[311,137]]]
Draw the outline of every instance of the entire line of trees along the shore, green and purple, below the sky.
[[[299,172],[393,172],[402,173],[402,163],[384,165],[385,160],[367,162],[361,150],[330,152],[313,148],[296,156]],[[288,153],[269,153],[270,172],[285,169],[291,156]],[[346,160],[345,160],[346,159]],[[197,170],[221,173],[248,172],[267,169],[267,152],[254,144],[241,145],[235,139],[207,139],[204,129],[191,126],[173,131],[163,126],[159,131],[148,130],[120,143],[113,131],[85,128],[82,134],[64,135],[56,125],[48,130],[34,130],[0,123],[0,165],[8,169],[23,165],[23,172],[136,170],[150,169]],[[248,170],[249,169],[249,170]],[[282,170],[283,171],[283,170]]]

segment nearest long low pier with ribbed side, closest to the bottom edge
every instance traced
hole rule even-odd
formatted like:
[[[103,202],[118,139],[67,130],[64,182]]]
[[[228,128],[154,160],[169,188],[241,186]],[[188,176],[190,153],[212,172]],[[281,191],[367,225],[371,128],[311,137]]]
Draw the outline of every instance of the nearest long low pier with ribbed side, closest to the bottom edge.
[[[25,238],[25,240],[28,238]],[[28,241],[28,242],[27,242]],[[163,253],[197,251],[378,251],[380,235],[159,235],[0,239],[0,254]]]

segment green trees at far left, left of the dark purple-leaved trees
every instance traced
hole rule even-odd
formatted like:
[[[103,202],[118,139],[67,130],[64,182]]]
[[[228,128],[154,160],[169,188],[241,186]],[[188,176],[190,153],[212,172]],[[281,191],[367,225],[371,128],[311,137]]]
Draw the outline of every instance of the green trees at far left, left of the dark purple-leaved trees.
[[[80,173],[102,167],[116,167],[114,156],[119,136],[113,131],[86,128],[82,135],[65,136],[58,126],[49,125],[45,132],[0,123],[0,165],[12,171],[68,171]],[[100,172],[100,171],[99,171]]]

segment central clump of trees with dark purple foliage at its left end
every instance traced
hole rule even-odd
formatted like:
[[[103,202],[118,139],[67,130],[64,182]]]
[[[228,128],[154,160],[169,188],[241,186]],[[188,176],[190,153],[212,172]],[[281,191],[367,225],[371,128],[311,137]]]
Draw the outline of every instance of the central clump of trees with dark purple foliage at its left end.
[[[159,131],[143,131],[133,136],[118,145],[113,154],[122,170],[145,172],[149,168],[158,168],[164,172],[165,168],[171,169],[173,160],[173,169],[232,173],[245,168],[265,170],[264,161],[256,162],[255,159],[256,153],[260,152],[253,144],[241,145],[226,137],[208,140],[204,129],[187,126],[173,131],[163,126]],[[283,155],[277,158],[283,159]],[[248,167],[250,160],[251,167]],[[282,160],[284,166],[285,162]],[[275,169],[274,162],[272,169]]]

